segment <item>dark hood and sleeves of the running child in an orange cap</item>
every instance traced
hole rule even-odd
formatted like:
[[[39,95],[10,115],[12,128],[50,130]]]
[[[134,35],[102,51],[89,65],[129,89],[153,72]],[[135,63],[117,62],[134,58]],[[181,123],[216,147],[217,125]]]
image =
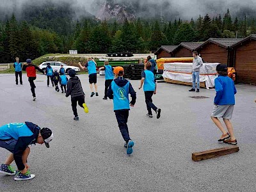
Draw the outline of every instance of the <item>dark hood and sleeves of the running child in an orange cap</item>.
[[[127,84],[129,82],[126,79],[124,79],[123,77],[118,77],[114,81],[120,87],[125,86],[125,84]],[[136,103],[136,92],[132,88],[131,83],[129,84],[129,94],[132,97],[130,104],[134,105]],[[113,99],[113,90],[112,90],[111,86],[109,86],[109,88],[108,88],[108,97],[109,97],[109,99]]]

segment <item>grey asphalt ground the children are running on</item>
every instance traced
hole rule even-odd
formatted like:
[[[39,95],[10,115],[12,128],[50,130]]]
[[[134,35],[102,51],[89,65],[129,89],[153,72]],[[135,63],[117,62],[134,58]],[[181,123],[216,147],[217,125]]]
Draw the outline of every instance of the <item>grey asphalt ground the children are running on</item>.
[[[131,81],[138,100],[128,122],[134,153],[127,156],[112,101],[102,100],[104,77],[98,77],[99,97],[93,98],[88,76],[79,78],[90,112],[78,108],[80,120],[75,122],[70,97],[47,87],[45,76],[37,76],[33,101],[25,75],[23,85],[15,85],[12,74],[0,75],[0,124],[31,121],[54,132],[50,148],[31,147],[28,164],[35,179],[0,175],[0,191],[256,190],[256,86],[236,86],[232,123],[240,151],[193,162],[192,152],[227,146],[217,142],[221,132],[210,118],[214,90],[191,93],[189,86],[159,83],[153,100],[163,113],[157,120],[146,116],[140,82]],[[195,95],[209,98],[190,98]],[[0,162],[7,156],[0,148]]]

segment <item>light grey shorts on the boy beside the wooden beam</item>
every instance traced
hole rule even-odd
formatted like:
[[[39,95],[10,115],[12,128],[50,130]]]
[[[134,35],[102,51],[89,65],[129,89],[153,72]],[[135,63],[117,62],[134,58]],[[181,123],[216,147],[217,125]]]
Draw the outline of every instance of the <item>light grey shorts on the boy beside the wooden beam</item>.
[[[219,106],[216,105],[213,108],[212,115],[217,118],[231,119],[234,111],[234,105]]]

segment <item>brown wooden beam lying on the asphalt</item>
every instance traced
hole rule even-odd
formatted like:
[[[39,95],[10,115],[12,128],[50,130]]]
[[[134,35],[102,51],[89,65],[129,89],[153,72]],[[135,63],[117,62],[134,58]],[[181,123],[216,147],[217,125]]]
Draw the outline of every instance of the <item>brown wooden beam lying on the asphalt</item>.
[[[214,157],[225,156],[227,154],[232,154],[239,151],[238,146],[231,146],[231,147],[223,147],[223,148],[214,148],[211,150],[205,150],[202,152],[194,152],[192,154],[193,161],[202,161],[205,159],[211,159]]]

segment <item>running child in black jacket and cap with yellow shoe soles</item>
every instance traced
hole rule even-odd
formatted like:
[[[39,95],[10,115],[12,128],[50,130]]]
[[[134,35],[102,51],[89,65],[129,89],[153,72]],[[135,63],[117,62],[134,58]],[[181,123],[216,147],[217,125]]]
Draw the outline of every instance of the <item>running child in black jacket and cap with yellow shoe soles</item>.
[[[78,121],[79,117],[77,115],[77,102],[81,108],[84,109],[85,113],[88,113],[88,108],[84,102],[84,92],[81,85],[80,79],[76,76],[76,71],[74,69],[68,71],[70,79],[67,83],[67,93],[66,97],[71,95],[71,106],[74,113],[74,120]]]

